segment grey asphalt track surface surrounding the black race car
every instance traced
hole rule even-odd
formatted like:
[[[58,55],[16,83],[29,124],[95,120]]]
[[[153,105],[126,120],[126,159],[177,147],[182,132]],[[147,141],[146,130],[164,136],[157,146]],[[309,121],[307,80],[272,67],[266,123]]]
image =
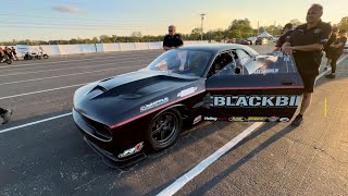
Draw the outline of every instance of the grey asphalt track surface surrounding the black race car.
[[[254,48],[260,53],[273,49]],[[86,83],[145,68],[160,53],[1,63],[0,106],[13,108],[14,114],[0,127],[0,195],[157,195],[252,124],[203,122],[132,168],[105,167],[75,127],[73,94]],[[300,127],[262,124],[176,195],[348,195],[346,56],[335,79],[316,82]],[[53,119],[40,122],[48,118]]]

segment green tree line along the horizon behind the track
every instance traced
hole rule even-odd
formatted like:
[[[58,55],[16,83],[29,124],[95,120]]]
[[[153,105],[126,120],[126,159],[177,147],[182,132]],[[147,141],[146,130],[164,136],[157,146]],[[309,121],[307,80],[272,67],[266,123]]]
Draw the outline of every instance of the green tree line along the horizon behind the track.
[[[289,21],[295,26],[302,24],[299,20],[295,19]],[[344,28],[348,30],[348,16],[345,16],[340,20],[338,24],[333,26]],[[178,26],[179,29],[179,26]],[[250,21],[248,19],[234,20],[227,28],[211,29],[206,33],[202,33],[200,27],[194,28],[190,34],[181,34],[184,40],[199,40],[201,34],[203,35],[204,40],[215,40],[221,41],[223,39],[229,38],[248,38],[258,36],[258,34],[266,30],[273,36],[282,35],[283,25],[269,25],[261,26],[257,29],[251,27]],[[141,32],[133,32],[129,36],[117,36],[117,35],[100,35],[99,37],[89,38],[72,38],[70,40],[12,40],[7,42],[1,42],[5,46],[13,45],[75,45],[75,44],[108,44],[108,42],[149,42],[149,41],[162,41],[164,35],[152,36],[152,35],[142,35]]]

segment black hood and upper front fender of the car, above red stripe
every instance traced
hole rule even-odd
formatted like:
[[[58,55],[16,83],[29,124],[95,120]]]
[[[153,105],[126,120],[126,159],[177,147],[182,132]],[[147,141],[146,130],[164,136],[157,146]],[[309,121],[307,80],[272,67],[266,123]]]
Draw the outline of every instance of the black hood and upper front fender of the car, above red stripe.
[[[201,77],[137,71],[78,88],[74,95],[74,109],[86,118],[112,126],[200,90],[204,90]]]

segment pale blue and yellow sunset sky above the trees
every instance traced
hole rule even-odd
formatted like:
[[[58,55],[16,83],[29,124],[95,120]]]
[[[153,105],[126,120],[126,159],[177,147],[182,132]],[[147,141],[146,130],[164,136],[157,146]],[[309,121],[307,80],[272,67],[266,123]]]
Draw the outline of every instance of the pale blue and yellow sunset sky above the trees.
[[[164,35],[167,26],[188,34],[227,28],[233,20],[249,19],[253,28],[304,22],[312,3],[324,7],[324,22],[348,16],[347,0],[1,0],[0,41],[92,38],[100,35]]]

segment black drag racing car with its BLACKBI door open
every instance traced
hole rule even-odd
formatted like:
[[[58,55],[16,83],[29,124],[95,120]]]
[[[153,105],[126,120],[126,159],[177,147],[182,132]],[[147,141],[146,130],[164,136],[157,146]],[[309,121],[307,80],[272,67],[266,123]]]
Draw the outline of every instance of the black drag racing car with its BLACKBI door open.
[[[108,166],[124,167],[170,147],[200,121],[288,122],[302,89],[294,59],[282,52],[185,46],[146,69],[80,87],[73,117]]]

